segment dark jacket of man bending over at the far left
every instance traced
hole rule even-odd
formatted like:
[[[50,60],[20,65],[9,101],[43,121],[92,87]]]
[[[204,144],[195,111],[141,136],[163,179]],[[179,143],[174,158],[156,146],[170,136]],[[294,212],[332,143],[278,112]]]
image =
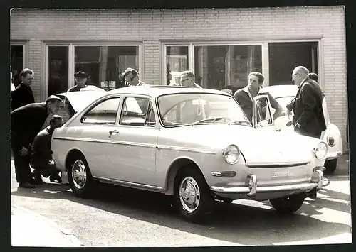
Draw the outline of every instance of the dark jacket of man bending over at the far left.
[[[33,142],[48,117],[46,104],[33,103],[11,112],[11,148],[19,152]]]

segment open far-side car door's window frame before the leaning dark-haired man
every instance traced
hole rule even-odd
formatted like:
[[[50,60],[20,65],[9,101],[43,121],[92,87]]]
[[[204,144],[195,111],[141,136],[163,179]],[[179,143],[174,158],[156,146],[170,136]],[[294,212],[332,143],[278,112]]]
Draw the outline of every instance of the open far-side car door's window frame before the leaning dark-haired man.
[[[261,128],[274,124],[268,95],[261,94],[253,98],[252,121],[253,128]]]

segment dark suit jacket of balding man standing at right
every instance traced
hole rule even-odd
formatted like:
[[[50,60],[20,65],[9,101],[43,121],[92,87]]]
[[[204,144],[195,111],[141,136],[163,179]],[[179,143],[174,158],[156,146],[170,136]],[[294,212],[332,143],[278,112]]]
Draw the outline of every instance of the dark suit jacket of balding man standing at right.
[[[292,109],[294,111],[293,124],[297,122],[297,131],[308,136],[320,136],[325,131],[326,124],[323,113],[323,92],[319,84],[306,78],[295,95]]]

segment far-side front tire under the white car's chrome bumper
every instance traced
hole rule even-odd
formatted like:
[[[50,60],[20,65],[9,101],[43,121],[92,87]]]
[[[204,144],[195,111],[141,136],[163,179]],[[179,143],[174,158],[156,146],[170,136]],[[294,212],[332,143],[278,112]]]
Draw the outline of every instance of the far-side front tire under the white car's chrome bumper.
[[[304,194],[290,195],[284,198],[270,199],[270,203],[278,213],[293,214],[302,206],[305,199]]]

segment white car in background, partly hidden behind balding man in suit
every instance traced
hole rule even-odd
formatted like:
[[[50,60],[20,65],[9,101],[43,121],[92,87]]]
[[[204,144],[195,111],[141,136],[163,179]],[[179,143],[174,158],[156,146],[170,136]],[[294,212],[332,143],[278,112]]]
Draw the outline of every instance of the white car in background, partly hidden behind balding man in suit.
[[[298,92],[298,87],[291,84],[274,85],[264,87],[263,92],[269,92],[274,98],[276,98],[278,103],[281,104],[283,108],[282,115],[286,115],[286,105],[295,97],[295,94]],[[332,174],[337,168],[337,158],[342,155],[342,138],[339,128],[337,128],[337,126],[332,124],[330,121],[325,97],[323,101],[323,111],[327,128],[321,134],[320,139],[325,141],[325,143],[328,143],[328,155],[326,156],[324,165],[326,168],[325,174]],[[274,109],[272,109],[272,112],[274,113]],[[291,116],[290,119],[288,119],[287,116],[281,116],[274,121],[274,124],[278,130],[293,131],[293,126],[286,126],[286,123],[290,120]]]

